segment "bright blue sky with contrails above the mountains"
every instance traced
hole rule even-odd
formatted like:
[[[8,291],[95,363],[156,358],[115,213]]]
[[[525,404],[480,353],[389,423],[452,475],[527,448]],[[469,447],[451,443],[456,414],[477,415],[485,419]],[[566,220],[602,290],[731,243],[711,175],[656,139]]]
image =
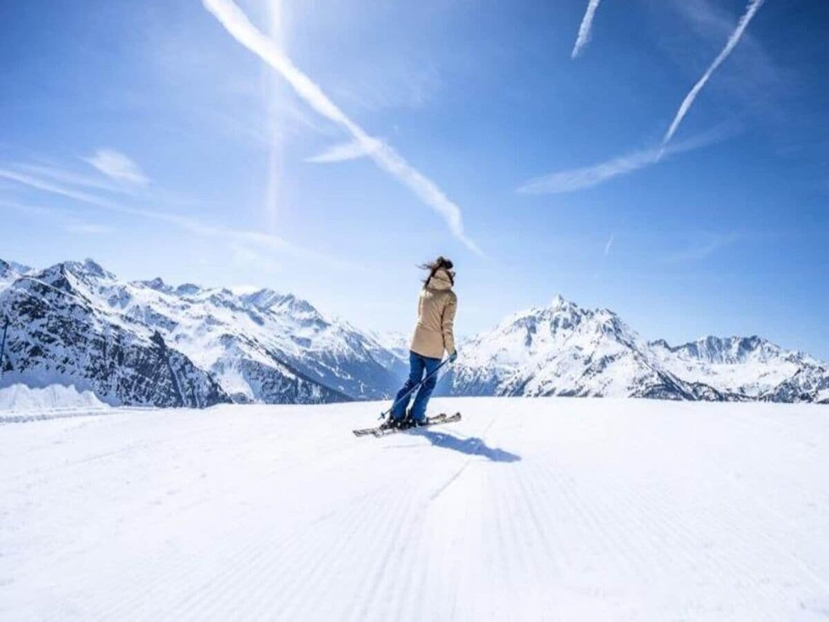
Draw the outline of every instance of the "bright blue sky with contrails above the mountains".
[[[0,257],[408,332],[443,253],[460,333],[561,293],[829,359],[826,2],[754,2],[667,142],[752,2],[604,0],[575,58],[586,0],[206,3],[0,5]]]

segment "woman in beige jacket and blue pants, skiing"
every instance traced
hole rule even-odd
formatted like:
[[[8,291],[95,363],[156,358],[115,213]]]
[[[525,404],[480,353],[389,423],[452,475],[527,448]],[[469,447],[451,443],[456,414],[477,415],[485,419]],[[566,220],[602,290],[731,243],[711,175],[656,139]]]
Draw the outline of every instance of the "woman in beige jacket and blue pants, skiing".
[[[455,312],[458,309],[458,297],[452,291],[455,284],[453,264],[444,257],[438,257],[420,267],[429,270],[429,276],[420,289],[417,327],[414,328],[409,352],[409,380],[398,391],[395,403],[391,406],[390,417],[386,422],[390,427],[416,426],[426,422],[426,404],[438,380],[437,374],[433,372],[444,357],[444,350],[448,352],[450,362],[458,357],[453,333]],[[423,380],[424,375],[426,380],[414,395],[412,389]],[[407,414],[406,408],[413,395],[414,404]]]

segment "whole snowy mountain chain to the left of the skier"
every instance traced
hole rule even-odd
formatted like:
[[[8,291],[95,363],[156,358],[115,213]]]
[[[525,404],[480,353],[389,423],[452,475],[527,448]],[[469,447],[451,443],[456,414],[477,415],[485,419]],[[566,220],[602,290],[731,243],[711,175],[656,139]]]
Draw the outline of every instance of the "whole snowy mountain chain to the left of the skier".
[[[111,404],[210,406],[381,398],[399,383],[387,368],[393,353],[291,294],[127,283],[92,260],[16,274],[0,293],[12,320],[4,385],[57,382]]]

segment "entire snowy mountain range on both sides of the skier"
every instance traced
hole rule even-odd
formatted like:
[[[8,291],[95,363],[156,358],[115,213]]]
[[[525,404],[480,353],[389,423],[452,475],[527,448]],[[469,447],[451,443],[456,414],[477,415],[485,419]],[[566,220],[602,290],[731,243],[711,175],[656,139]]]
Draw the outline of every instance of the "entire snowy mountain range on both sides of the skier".
[[[399,333],[362,331],[292,294],[123,281],[93,260],[0,260],[0,386],[74,385],[114,405],[321,403],[392,395]],[[763,338],[647,341],[560,296],[463,340],[439,395],[829,402],[829,366]]]

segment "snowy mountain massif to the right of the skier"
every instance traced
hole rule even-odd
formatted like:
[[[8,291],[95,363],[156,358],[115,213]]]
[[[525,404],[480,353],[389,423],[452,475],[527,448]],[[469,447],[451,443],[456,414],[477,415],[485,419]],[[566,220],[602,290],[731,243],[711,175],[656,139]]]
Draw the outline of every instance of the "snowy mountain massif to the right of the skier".
[[[461,346],[439,393],[461,396],[654,397],[822,401],[829,369],[763,339],[647,343],[608,309],[561,297],[516,313]]]

